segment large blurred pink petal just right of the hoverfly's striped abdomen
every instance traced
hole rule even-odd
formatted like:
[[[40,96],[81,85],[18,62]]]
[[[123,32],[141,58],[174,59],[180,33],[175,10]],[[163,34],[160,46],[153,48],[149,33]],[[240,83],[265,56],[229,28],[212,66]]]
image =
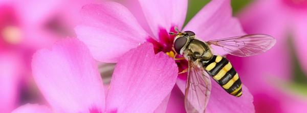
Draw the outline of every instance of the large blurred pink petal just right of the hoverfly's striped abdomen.
[[[289,79],[291,75],[287,18],[280,13],[282,8],[276,2],[278,1],[255,1],[239,14],[247,33],[268,34],[277,41],[275,46],[264,54],[246,58],[228,57],[252,94],[263,92],[263,88],[269,85],[267,80],[270,76]],[[268,64],[270,68],[264,67],[264,64]]]

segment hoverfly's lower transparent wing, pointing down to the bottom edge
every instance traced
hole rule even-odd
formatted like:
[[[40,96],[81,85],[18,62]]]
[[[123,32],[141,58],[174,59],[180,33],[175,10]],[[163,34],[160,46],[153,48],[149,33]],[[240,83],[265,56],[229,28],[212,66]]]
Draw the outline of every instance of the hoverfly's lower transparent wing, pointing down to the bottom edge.
[[[207,72],[189,61],[185,91],[185,109],[190,112],[205,112],[211,92],[211,81]]]

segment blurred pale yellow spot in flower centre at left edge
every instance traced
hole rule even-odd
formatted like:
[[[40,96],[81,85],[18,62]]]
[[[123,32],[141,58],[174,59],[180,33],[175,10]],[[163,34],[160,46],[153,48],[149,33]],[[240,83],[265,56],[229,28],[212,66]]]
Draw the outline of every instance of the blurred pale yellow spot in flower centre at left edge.
[[[5,27],[1,34],[4,37],[4,40],[11,44],[17,44],[21,41],[21,31],[16,26],[7,26]]]

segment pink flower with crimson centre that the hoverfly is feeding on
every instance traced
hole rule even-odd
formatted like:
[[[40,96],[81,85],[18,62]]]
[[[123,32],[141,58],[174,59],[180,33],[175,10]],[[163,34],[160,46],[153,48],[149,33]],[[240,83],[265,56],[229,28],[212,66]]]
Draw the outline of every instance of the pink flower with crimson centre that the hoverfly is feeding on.
[[[129,1],[126,7],[115,2],[91,4],[82,8],[82,24],[75,31],[94,58],[101,62],[118,62],[125,57],[124,53],[144,42],[153,43],[155,53],[164,52],[173,57],[174,37],[169,36],[168,32],[174,32],[174,27],[183,28],[186,11],[186,0]],[[245,34],[237,19],[232,17],[230,1],[222,0],[206,5],[183,30],[195,32],[201,40]],[[226,54],[221,48],[213,48],[217,54]],[[176,63],[179,72],[187,67],[185,60]],[[186,74],[179,75],[177,85],[182,91],[185,82]],[[253,97],[245,86],[244,95],[236,98],[227,94],[215,81],[212,81],[212,85],[207,111],[254,111]]]

